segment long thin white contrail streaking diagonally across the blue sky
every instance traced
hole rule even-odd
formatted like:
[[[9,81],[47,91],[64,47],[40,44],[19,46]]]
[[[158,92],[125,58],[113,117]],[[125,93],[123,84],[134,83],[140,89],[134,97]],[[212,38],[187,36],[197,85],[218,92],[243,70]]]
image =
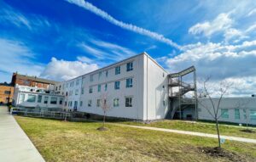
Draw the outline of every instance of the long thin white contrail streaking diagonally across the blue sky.
[[[133,31],[133,32],[139,33],[139,34],[144,35],[144,36],[149,36],[149,37],[151,37],[155,40],[158,40],[160,42],[165,42],[166,44],[168,44],[172,47],[180,48],[180,46],[177,45],[177,43],[172,42],[172,40],[166,38],[165,36],[160,35],[160,34],[158,34],[156,32],[153,32],[153,31],[148,31],[148,30],[143,29],[141,27],[138,27],[136,25],[127,24],[127,23],[122,22],[120,20],[116,20],[110,14],[106,13],[105,11],[103,11],[100,8],[96,8],[96,6],[94,6],[91,3],[85,2],[84,0],[67,0],[67,2],[76,4],[76,5],[84,8],[84,9],[87,9],[90,12],[102,17],[102,19],[108,20],[108,22],[112,23],[113,25],[117,25],[117,26],[119,26],[119,27],[121,27],[125,30]]]

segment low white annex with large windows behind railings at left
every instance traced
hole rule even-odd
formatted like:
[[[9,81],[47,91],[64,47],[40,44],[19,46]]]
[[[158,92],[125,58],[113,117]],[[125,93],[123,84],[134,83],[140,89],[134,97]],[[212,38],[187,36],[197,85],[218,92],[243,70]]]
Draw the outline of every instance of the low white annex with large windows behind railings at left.
[[[26,108],[44,108],[54,109],[61,108],[64,102],[64,97],[55,94],[54,91],[38,87],[15,86],[13,97],[13,105],[16,107]]]

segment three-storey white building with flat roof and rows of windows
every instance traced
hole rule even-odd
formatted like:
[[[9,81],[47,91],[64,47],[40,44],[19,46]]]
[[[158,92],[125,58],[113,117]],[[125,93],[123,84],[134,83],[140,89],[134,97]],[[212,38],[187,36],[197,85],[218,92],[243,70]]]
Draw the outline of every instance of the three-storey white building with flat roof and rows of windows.
[[[147,53],[111,64],[56,85],[65,95],[63,108],[103,115],[102,94],[108,96],[108,116],[134,120],[164,119],[168,111],[168,72]]]

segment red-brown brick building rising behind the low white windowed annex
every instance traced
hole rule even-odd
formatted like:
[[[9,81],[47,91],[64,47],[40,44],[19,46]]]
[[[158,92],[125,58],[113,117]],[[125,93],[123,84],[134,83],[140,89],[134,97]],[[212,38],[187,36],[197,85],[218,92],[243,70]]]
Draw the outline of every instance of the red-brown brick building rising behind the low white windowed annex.
[[[13,74],[11,81],[11,85],[14,87],[16,84],[19,84],[20,86],[48,88],[49,85],[54,86],[56,83],[58,82],[38,78],[37,76],[20,75],[18,73]]]

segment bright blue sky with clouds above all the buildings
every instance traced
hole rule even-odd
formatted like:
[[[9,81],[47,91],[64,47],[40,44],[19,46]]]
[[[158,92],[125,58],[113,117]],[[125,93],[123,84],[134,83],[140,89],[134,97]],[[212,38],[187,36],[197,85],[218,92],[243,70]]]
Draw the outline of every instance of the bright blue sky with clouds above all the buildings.
[[[0,0],[0,81],[63,81],[146,51],[170,72],[255,93],[255,1]],[[245,88],[247,91],[245,91]]]

